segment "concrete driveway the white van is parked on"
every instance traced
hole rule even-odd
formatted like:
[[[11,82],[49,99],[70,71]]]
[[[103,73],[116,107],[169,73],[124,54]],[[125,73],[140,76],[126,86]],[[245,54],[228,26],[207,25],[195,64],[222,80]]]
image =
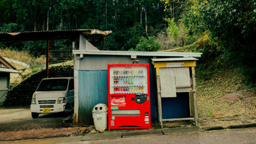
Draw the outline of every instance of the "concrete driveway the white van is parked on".
[[[0,132],[31,130],[40,128],[69,127],[72,122],[63,123],[63,116],[57,114],[40,114],[33,119],[29,108],[0,109]]]

